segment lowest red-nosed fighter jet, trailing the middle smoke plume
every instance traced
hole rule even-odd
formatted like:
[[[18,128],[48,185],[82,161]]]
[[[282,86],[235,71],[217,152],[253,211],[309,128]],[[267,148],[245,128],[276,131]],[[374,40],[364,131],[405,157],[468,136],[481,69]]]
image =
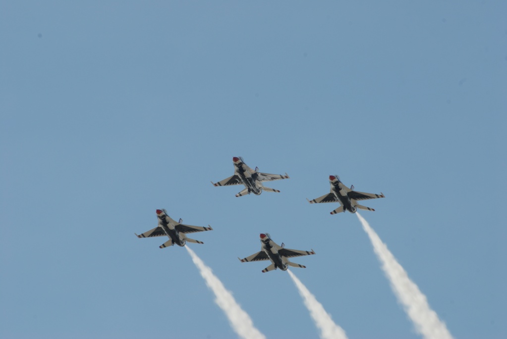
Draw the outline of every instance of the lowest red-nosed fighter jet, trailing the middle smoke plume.
[[[282,271],[286,271],[289,266],[306,268],[306,266],[289,262],[287,258],[308,256],[312,254],[315,254],[313,249],[311,251],[288,249],[284,248],[283,243],[281,246],[279,246],[273,240],[271,240],[269,233],[261,233],[261,250],[244,259],[238,259],[242,263],[250,261],[271,260],[272,264],[262,270],[262,273],[265,273],[268,271],[276,270],[277,268]]]

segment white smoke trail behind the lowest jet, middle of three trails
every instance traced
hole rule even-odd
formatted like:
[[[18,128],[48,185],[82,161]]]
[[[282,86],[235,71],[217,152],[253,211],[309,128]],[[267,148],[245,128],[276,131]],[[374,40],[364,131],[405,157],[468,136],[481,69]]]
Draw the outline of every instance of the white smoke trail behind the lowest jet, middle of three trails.
[[[333,319],[331,319],[331,315],[325,312],[322,304],[315,299],[315,296],[310,293],[308,288],[303,285],[294,273],[290,270],[287,270],[287,272],[288,275],[291,276],[296,287],[298,287],[299,294],[303,298],[306,308],[310,311],[310,316],[320,330],[320,337],[322,339],[347,339],[347,335],[345,335],[343,328],[335,324]]]

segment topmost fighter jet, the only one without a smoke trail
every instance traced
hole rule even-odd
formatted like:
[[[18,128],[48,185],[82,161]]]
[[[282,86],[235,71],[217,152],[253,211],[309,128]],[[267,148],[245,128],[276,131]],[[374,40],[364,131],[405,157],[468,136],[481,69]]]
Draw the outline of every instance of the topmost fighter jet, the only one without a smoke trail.
[[[211,184],[214,186],[245,185],[246,188],[236,194],[237,197],[250,193],[259,195],[262,191],[280,192],[273,188],[264,187],[262,182],[289,178],[286,173],[285,175],[261,173],[257,167],[254,171],[245,164],[242,157],[235,156],[232,158],[232,161],[234,162],[234,175],[218,183],[211,182]]]

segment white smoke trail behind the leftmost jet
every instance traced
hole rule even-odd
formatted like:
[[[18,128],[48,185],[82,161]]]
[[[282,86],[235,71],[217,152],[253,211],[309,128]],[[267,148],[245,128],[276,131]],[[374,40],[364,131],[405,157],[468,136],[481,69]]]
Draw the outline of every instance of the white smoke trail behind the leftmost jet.
[[[241,338],[266,339],[266,336],[253,326],[253,322],[248,314],[241,309],[238,303],[236,303],[232,293],[224,287],[222,282],[213,274],[211,269],[207,267],[199,257],[197,257],[196,253],[190,249],[189,246],[185,246],[185,248],[189,251],[190,257],[192,257],[192,261],[206,281],[206,285],[208,285],[213,293],[215,293],[215,303],[225,312],[232,329]]]

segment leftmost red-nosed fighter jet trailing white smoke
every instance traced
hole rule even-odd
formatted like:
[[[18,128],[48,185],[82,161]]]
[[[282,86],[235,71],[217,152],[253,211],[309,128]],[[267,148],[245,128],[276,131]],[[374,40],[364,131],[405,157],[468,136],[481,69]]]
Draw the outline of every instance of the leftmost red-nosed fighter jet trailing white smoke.
[[[157,217],[159,220],[157,227],[153,230],[136,235],[138,238],[161,237],[164,235],[168,236],[169,240],[160,245],[160,248],[165,248],[174,244],[178,246],[185,246],[187,241],[202,244],[202,241],[187,238],[185,234],[212,230],[209,225],[208,227],[185,225],[182,224],[181,219],[179,219],[179,222],[176,222],[167,215],[167,211],[165,209],[157,209]]]

